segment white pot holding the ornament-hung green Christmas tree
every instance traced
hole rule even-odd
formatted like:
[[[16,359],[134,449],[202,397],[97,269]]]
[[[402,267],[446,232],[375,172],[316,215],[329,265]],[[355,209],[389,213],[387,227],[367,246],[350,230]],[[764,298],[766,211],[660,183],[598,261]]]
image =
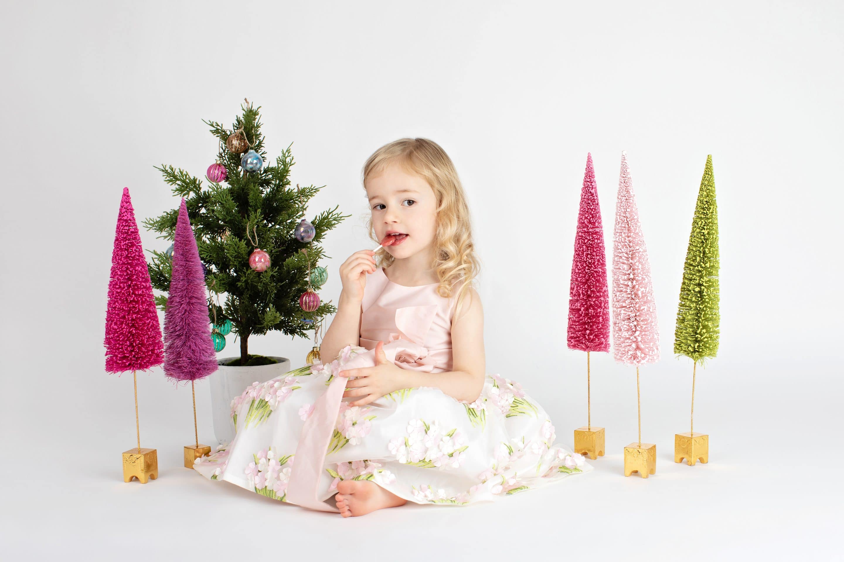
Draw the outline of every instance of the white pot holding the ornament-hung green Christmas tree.
[[[211,418],[214,420],[214,436],[217,441],[229,443],[235,438],[235,425],[231,422],[231,401],[256,381],[266,383],[271,378],[279,377],[290,371],[290,360],[284,357],[271,357],[278,363],[257,365],[255,367],[227,367],[224,363],[237,357],[219,359],[219,369],[208,377],[211,388]]]

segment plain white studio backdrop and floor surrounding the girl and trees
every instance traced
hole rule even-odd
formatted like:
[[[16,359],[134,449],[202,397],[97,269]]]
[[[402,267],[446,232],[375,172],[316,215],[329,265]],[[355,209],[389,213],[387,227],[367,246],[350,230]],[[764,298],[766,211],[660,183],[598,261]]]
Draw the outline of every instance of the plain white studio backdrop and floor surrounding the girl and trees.
[[[133,545],[176,558],[197,544],[219,559],[350,545],[408,559],[834,552],[842,15],[840,3],[796,1],[4,3],[4,549],[30,559],[107,559]],[[587,415],[586,358],[565,346],[583,169],[591,152],[609,263],[627,150],[662,335],[663,360],[642,369],[657,474],[622,475],[635,371],[594,354],[592,421],[607,427],[607,456],[553,490],[349,520],[279,506],[181,468],[190,390],[160,369],[138,378],[160,479],[123,484],[132,379],[104,372],[102,346],[121,191],[138,221],[174,208],[153,166],[203,176],[217,142],[202,119],[230,126],[244,97],[262,106],[273,160],[294,142],[293,182],[326,186],[311,215],[334,205],[353,215],[324,244],[325,300],[338,297],[338,265],[372,247],[365,158],[401,136],[446,149],[483,260],[488,370],[540,398],[566,446]],[[722,333],[695,393],[711,462],[692,468],[671,456],[691,386],[690,361],[672,353],[674,314],[710,153]],[[169,245],[143,228],[142,239]],[[280,334],[250,340],[295,366],[309,349]],[[213,442],[207,383],[197,388],[200,441]],[[406,534],[421,528],[430,543]]]

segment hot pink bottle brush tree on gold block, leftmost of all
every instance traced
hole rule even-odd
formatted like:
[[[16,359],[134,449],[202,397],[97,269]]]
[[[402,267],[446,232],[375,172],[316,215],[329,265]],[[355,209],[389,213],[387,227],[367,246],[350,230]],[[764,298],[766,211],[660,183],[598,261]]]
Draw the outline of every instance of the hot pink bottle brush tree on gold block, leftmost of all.
[[[155,449],[141,448],[137,372],[160,365],[163,356],[153,287],[127,187],[123,188],[111,251],[105,345],[106,372],[132,371],[134,379],[138,447],[123,453],[123,481],[137,478],[146,484],[158,478],[158,454]]]

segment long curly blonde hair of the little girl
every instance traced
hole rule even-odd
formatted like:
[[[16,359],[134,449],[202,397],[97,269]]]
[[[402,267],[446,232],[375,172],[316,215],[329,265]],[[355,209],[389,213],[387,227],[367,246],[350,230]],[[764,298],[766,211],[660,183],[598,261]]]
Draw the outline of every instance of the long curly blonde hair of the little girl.
[[[437,293],[450,298],[457,293],[457,309],[469,287],[474,286],[480,271],[480,262],[472,242],[472,227],[463,185],[457,177],[452,159],[436,142],[426,138],[401,138],[385,144],[372,153],[364,164],[362,183],[380,173],[391,163],[401,164],[405,170],[425,179],[436,195],[436,257],[432,264],[440,280]],[[376,243],[372,217],[366,221],[370,238]],[[386,249],[376,253],[379,267],[392,265],[393,257]]]

